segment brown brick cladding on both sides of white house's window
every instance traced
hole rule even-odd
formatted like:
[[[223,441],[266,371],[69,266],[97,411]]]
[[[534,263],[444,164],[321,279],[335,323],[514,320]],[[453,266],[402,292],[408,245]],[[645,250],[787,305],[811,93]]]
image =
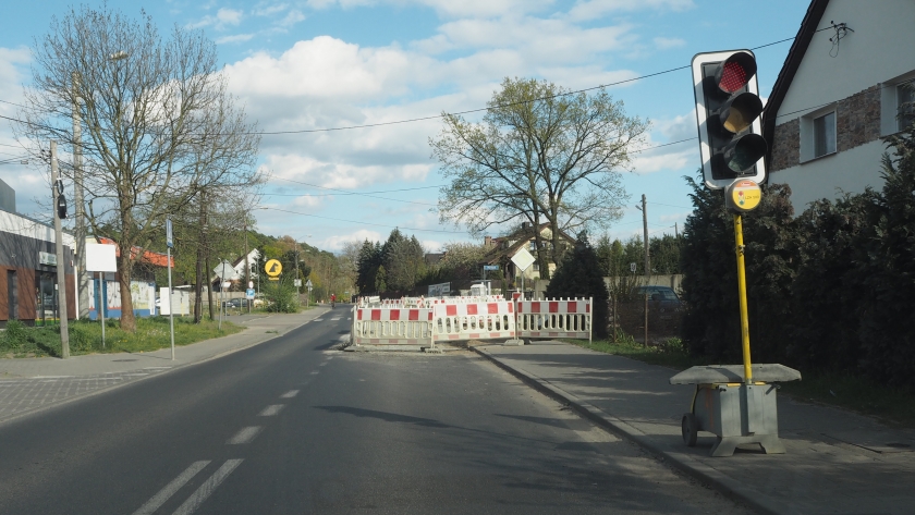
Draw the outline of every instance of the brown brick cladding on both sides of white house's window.
[[[880,85],[835,102],[837,152],[880,138]],[[769,173],[801,163],[801,118],[776,126]]]

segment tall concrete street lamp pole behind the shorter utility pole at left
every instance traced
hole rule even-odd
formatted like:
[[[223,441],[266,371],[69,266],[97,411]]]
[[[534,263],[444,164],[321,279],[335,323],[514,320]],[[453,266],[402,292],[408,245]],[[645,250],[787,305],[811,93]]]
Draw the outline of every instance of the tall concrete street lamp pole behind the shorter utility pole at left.
[[[86,271],[86,208],[83,198],[83,134],[80,121],[80,73],[73,72],[73,204],[76,237],[76,318],[89,317],[89,275]]]

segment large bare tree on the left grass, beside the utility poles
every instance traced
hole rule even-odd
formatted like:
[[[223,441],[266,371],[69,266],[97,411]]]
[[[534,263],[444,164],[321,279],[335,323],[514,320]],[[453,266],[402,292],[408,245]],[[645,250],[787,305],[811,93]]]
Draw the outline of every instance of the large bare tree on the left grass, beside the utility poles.
[[[20,135],[74,140],[78,111],[88,222],[117,242],[121,328],[135,330],[131,272],[164,219],[215,187],[255,181],[258,138],[233,107],[203,32],[163,39],[149,15],[71,9],[33,49]],[[70,176],[73,177],[73,169]],[[213,192],[216,193],[216,192]]]

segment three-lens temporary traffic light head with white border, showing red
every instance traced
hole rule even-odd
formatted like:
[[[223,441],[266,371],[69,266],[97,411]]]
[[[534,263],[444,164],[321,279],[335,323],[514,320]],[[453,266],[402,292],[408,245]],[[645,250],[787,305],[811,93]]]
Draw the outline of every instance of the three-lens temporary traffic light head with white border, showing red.
[[[736,180],[766,181],[761,136],[762,101],[756,85],[756,58],[749,50],[698,53],[693,58],[696,121],[703,177],[712,189]]]

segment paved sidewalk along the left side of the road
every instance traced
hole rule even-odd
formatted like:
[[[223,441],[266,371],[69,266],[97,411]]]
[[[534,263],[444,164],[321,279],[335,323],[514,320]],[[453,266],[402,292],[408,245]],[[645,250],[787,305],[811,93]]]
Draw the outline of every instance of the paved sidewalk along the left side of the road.
[[[228,336],[149,353],[89,354],[0,359],[0,424],[62,402],[136,381],[171,369],[213,359],[282,335],[330,311],[227,317],[248,329]]]

